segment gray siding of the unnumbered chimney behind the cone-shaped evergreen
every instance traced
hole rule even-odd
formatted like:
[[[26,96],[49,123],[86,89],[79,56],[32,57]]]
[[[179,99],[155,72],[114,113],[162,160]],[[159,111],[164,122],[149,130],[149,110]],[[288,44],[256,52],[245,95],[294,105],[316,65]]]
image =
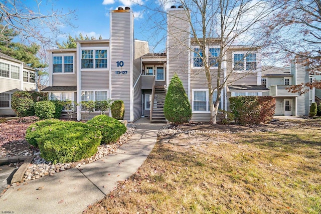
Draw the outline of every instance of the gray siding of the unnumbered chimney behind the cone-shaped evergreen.
[[[189,59],[190,50],[187,48],[190,47],[188,32],[190,26],[187,13],[184,10],[169,11],[167,38],[168,82],[171,82],[176,73],[182,80],[186,92],[188,92],[188,69],[189,63],[191,63]]]

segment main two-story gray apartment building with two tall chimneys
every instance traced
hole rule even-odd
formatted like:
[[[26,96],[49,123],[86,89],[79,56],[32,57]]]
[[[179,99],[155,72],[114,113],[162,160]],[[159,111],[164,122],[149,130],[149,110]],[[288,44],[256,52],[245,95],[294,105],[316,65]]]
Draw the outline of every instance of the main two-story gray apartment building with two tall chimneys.
[[[203,63],[191,49],[199,51],[190,38],[187,13],[183,8],[168,10],[166,53],[149,53],[148,43],[134,39],[133,12],[129,8],[110,12],[110,39],[77,41],[76,49],[49,50],[49,92],[51,99],[72,101],[123,100],[124,119],[166,121],[163,107],[166,88],[178,74],[192,106],[193,121],[209,121],[209,97]],[[178,42],[178,39],[180,42]],[[207,46],[212,71],[217,70],[219,40]],[[223,62],[220,108],[228,110],[231,96],[262,96],[260,47],[230,47]],[[230,72],[228,72],[230,71]],[[246,75],[245,75],[246,74]],[[213,87],[216,87],[213,78]],[[217,93],[213,94],[216,100]],[[77,120],[83,112],[77,109]],[[94,112],[91,117],[98,114]],[[110,113],[109,113],[110,114]],[[90,118],[90,117],[89,117]]]

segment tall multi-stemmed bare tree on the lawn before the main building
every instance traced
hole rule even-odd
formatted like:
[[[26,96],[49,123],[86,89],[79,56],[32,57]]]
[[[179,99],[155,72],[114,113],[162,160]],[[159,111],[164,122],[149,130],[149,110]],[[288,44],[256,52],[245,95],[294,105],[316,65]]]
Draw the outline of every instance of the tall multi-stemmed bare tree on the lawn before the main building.
[[[176,18],[188,22],[189,28],[179,27],[175,32],[171,32],[164,25],[166,19],[159,21],[159,18],[154,18],[158,22],[154,26],[165,31],[168,35],[170,34],[171,38],[177,38],[177,47],[184,46],[185,50],[190,51],[199,61],[197,63],[202,64],[198,73],[200,75],[203,73],[206,76],[209,91],[210,122],[216,124],[222,89],[247,75],[253,75],[257,70],[256,61],[250,65],[252,66],[251,69],[245,69],[244,65],[241,68],[241,63],[238,64],[231,58],[232,49],[235,50],[239,47],[239,50],[245,52],[244,58],[252,57],[253,52],[259,51],[263,39],[262,28],[266,25],[265,22],[275,10],[276,5],[269,4],[266,1],[250,0],[180,0],[178,2],[186,9],[186,16]],[[158,13],[163,12],[164,18],[173,16],[164,12],[165,5],[169,5],[168,2],[162,2],[158,9],[151,10]],[[182,41],[178,31],[189,34],[189,38],[192,38],[193,47],[191,47],[190,42]],[[217,53],[208,52],[207,47],[210,45],[219,47]],[[256,57],[259,61],[259,55]],[[213,69],[213,65],[217,68]],[[235,70],[241,70],[241,72],[235,72]],[[198,73],[195,75],[198,75]],[[213,104],[214,91],[217,91],[215,104]]]

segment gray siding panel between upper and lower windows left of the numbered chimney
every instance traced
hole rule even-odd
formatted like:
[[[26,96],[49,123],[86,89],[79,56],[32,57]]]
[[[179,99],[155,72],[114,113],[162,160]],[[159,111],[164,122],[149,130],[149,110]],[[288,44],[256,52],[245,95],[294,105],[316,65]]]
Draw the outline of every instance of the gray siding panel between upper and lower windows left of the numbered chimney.
[[[82,71],[81,90],[109,89],[109,71]]]

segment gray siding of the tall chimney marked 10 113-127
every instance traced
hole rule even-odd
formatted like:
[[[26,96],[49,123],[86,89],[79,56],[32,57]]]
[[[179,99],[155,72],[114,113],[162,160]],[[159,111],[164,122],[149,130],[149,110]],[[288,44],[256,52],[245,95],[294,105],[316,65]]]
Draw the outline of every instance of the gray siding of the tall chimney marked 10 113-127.
[[[111,13],[111,44],[110,44],[110,56],[111,56],[111,99],[122,100],[125,106],[125,120],[130,120],[130,91],[132,83],[131,63],[133,60],[132,46],[133,46],[133,26],[132,13],[123,12]],[[124,66],[122,68],[117,67],[117,61],[123,61]],[[127,74],[115,74],[115,71],[127,71]]]

